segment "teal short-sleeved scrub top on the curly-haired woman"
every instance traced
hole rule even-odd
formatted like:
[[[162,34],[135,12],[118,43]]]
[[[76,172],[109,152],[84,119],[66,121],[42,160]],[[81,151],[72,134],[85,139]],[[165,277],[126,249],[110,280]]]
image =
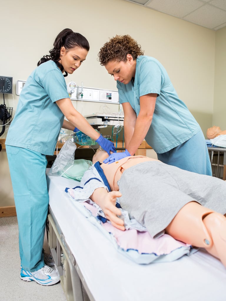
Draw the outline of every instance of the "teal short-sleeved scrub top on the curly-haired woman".
[[[169,76],[159,61],[153,57],[138,56],[134,83],[127,85],[117,81],[119,103],[129,102],[137,116],[140,112],[140,96],[156,93],[156,105],[151,126],[145,140],[158,154],[165,153],[184,143],[200,126],[178,98]]]

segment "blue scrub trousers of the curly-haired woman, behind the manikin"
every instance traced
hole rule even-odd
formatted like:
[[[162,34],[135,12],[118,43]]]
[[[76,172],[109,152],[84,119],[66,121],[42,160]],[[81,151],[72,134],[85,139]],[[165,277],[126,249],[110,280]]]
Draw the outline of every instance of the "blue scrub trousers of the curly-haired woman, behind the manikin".
[[[166,153],[157,154],[157,156],[160,161],[168,165],[212,176],[209,152],[201,130],[184,143]]]

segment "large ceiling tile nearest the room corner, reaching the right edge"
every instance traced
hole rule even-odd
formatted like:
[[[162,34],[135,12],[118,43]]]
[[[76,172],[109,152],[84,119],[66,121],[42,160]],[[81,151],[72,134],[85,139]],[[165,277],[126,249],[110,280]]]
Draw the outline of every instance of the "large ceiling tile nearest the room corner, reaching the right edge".
[[[226,11],[211,7],[210,5],[204,5],[188,14],[183,20],[213,29],[225,23]]]

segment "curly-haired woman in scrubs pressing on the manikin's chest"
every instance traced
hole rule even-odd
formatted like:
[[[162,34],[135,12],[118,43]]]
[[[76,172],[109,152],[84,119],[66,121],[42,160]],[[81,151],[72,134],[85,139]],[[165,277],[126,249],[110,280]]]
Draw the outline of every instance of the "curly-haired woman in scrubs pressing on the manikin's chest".
[[[203,132],[179,99],[163,65],[145,56],[129,35],[111,38],[98,57],[117,81],[124,111],[126,150],[111,154],[104,163],[135,154],[145,138],[160,161],[212,175]]]

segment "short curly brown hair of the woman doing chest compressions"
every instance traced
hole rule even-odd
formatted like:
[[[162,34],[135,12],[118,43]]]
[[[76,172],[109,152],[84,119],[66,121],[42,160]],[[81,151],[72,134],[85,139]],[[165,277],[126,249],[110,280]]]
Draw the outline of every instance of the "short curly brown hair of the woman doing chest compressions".
[[[136,60],[138,55],[144,55],[144,51],[141,50],[141,45],[131,36],[116,35],[101,47],[98,57],[101,65],[104,66],[109,61],[126,61],[127,54],[131,54],[133,59]]]

